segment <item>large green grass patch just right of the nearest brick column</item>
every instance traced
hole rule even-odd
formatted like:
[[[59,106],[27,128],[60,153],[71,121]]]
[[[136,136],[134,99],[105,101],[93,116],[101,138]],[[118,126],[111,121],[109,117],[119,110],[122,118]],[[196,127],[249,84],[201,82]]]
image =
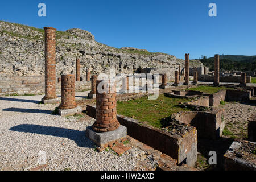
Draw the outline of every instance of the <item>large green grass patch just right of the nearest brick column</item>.
[[[147,122],[154,127],[163,127],[162,118],[167,118],[171,114],[189,109],[179,107],[180,103],[191,101],[190,99],[169,98],[160,94],[157,100],[148,100],[147,97],[138,100],[117,102],[117,113]]]

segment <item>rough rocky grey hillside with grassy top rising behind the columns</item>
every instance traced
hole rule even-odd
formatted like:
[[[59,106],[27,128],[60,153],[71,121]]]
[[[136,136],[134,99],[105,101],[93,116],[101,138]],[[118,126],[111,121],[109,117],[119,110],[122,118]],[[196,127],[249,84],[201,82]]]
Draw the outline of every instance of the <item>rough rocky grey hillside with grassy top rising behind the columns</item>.
[[[56,72],[75,73],[76,58],[81,61],[81,74],[86,68],[93,73],[134,73],[138,68],[152,68],[154,72],[174,73],[184,60],[164,53],[144,49],[114,48],[95,41],[94,36],[77,28],[56,32]],[[191,67],[202,66],[191,61]],[[21,24],[0,22],[0,74],[44,75],[44,30]],[[174,74],[171,74],[174,75]]]

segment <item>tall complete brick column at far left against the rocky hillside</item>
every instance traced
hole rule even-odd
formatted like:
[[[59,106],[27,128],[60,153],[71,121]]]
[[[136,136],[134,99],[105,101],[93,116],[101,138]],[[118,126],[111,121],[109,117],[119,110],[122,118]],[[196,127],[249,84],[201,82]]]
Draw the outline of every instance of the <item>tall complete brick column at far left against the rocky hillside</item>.
[[[45,35],[45,96],[43,100],[57,98],[56,96],[56,29],[44,27]]]

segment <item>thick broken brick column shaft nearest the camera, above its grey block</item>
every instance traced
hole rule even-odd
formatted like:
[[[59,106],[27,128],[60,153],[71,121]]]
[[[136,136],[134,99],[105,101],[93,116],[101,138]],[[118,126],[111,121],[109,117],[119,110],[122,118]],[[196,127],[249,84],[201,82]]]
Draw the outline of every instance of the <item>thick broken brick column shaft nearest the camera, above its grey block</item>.
[[[93,124],[92,129],[96,132],[107,132],[118,129],[120,123],[117,120],[117,100],[115,99],[116,93],[110,92],[115,90],[109,86],[108,92],[99,93],[98,84],[102,80],[96,81],[96,122]],[[102,89],[104,89],[102,87]]]

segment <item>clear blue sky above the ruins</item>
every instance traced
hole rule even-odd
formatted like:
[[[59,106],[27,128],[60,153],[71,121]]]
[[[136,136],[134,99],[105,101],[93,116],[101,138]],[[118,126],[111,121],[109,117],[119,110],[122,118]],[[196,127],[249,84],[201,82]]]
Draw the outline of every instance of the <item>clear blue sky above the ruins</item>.
[[[38,16],[46,3],[47,16]],[[209,3],[217,17],[208,15]],[[81,28],[109,46],[136,47],[184,59],[215,53],[256,55],[255,0],[1,1],[0,20],[65,31]]]

